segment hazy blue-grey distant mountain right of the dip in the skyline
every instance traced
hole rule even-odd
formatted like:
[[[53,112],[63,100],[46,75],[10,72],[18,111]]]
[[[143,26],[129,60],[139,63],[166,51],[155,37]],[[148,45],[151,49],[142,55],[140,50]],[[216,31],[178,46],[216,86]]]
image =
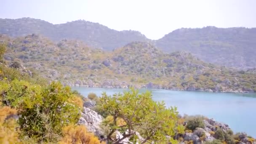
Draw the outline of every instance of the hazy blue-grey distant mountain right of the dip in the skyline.
[[[155,43],[163,51],[188,51],[213,64],[244,69],[256,67],[256,28],[182,28]]]

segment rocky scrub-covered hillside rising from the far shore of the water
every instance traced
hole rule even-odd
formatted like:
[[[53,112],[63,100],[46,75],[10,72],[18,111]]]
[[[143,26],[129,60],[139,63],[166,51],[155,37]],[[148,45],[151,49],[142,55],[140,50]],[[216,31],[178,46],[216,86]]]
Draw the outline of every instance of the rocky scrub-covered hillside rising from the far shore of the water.
[[[164,53],[150,43],[133,42],[112,52],[81,41],[54,43],[40,35],[10,38],[4,58],[36,69],[51,80],[90,87],[165,88],[187,91],[253,92],[255,69],[238,71],[200,61],[184,51]]]

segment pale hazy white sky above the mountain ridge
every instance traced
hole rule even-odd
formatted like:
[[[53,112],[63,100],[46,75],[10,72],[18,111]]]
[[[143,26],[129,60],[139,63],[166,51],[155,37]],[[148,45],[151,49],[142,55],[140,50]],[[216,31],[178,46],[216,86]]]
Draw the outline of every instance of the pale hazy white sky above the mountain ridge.
[[[0,18],[84,19],[159,39],[181,27],[256,27],[256,0],[0,0]]]

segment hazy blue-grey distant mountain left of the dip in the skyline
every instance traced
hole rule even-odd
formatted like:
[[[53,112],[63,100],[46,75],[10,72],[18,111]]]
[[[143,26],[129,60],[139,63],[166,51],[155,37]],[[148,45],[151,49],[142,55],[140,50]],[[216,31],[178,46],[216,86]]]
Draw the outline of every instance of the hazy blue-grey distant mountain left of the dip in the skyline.
[[[132,41],[149,41],[138,31],[117,31],[99,23],[84,20],[51,24],[47,21],[32,18],[0,19],[0,34],[11,37],[29,34],[41,34],[54,41],[63,39],[82,40],[93,48],[111,51]]]

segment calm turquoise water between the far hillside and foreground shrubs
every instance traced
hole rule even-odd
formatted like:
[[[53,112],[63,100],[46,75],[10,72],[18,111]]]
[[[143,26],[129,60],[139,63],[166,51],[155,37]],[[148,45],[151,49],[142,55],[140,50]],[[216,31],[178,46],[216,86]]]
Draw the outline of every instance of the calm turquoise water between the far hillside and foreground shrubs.
[[[73,87],[83,96],[103,91],[108,95],[128,91],[118,88]],[[140,92],[146,91],[141,89]],[[176,106],[181,115],[205,115],[229,125],[234,132],[246,132],[256,137],[256,94],[205,93],[193,91],[169,91],[149,89],[155,101],[165,101],[167,107]]]

